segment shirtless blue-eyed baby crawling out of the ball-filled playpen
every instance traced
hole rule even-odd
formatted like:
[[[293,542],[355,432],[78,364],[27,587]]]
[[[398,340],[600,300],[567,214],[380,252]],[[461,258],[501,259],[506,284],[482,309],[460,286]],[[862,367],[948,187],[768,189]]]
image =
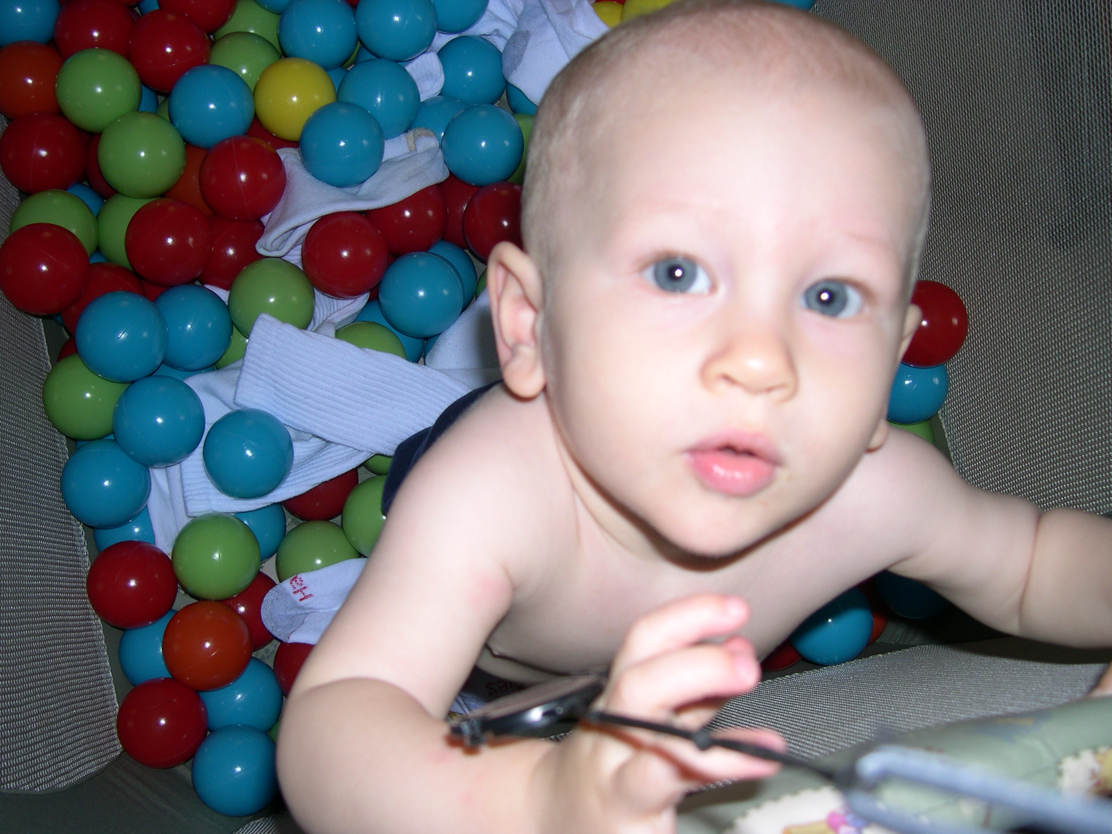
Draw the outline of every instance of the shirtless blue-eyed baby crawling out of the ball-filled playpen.
[[[694,727],[885,568],[1001,631],[1112,643],[1112,522],[888,430],[927,202],[906,91],[814,17],[682,0],[572,61],[525,250],[488,264],[503,384],[414,466],[286,706],[306,831],[667,832],[685,792],[774,767],[600,726],[466,751],[444,716],[473,667],[606,672],[603,707]]]

